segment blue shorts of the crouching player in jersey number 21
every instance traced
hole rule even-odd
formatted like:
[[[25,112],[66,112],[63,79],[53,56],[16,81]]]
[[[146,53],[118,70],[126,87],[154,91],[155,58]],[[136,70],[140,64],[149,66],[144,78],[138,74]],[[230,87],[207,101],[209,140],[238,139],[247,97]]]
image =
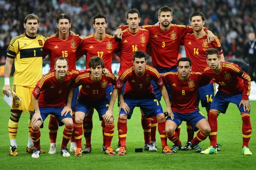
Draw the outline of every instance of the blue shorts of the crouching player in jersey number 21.
[[[102,116],[108,111],[108,106],[108,99],[90,101],[78,98],[76,112],[81,111],[84,112],[84,114],[87,114],[90,108],[95,108],[99,114],[99,120],[103,120]]]

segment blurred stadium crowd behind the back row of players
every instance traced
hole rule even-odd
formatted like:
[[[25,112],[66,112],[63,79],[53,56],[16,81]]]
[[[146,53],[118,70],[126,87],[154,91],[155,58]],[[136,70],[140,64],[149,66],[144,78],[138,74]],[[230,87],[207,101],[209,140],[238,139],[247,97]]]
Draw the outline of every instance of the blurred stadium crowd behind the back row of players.
[[[38,34],[45,37],[55,33],[56,20],[61,13],[70,16],[72,30],[81,37],[93,34],[93,16],[98,12],[107,20],[108,34],[114,34],[119,25],[125,25],[126,11],[137,8],[140,25],[156,23],[157,10],[163,5],[173,9],[175,24],[189,25],[194,11],[205,14],[205,27],[218,36],[226,58],[243,59],[247,34],[256,31],[256,1],[254,0],[0,0],[0,62],[5,62],[10,40],[23,34],[23,19],[29,13],[40,20]]]

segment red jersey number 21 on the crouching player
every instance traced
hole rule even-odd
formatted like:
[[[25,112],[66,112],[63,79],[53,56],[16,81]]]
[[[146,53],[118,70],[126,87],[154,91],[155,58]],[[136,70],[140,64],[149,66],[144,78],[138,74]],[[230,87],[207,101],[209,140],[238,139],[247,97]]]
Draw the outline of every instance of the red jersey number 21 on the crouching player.
[[[79,91],[79,97],[90,101],[106,99],[106,88],[108,84],[116,84],[116,77],[113,74],[102,75],[98,82],[94,82],[90,77],[90,71],[80,71],[79,76],[75,79],[73,87],[82,85]]]

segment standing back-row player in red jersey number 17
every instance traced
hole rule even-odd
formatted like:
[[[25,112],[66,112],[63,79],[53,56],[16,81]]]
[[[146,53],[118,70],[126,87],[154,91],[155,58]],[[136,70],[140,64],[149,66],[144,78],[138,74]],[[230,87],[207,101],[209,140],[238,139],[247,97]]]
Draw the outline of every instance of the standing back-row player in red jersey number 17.
[[[89,68],[89,60],[93,56],[98,56],[105,62],[105,68],[107,68],[112,74],[111,64],[113,59],[113,53],[118,50],[118,42],[115,41],[115,37],[106,34],[106,28],[108,23],[106,17],[103,14],[96,14],[93,17],[93,28],[95,28],[95,34],[91,34],[88,37],[84,37],[81,41],[78,56],[83,54],[86,56],[85,65]],[[110,100],[111,93],[113,91],[113,85],[110,83],[106,88],[107,98]],[[86,147],[83,153],[91,152],[91,134],[93,129],[93,109],[90,110],[84,118],[84,137],[86,141]],[[86,125],[86,126],[85,126]],[[102,135],[103,135],[103,146],[105,148],[105,137],[104,137],[105,122],[102,120]]]

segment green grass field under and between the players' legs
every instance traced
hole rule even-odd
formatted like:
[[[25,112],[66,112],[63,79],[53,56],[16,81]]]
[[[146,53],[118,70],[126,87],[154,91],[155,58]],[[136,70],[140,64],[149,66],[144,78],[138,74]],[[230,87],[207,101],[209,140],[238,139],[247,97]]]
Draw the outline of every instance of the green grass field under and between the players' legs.
[[[0,86],[3,87],[3,77],[0,77]],[[26,153],[28,140],[27,122],[29,113],[23,113],[19,122],[17,134],[18,156],[9,156],[9,135],[8,121],[10,117],[10,108],[3,102],[3,94],[0,95],[0,169],[73,169],[73,170],[115,170],[115,169],[175,169],[175,170],[251,170],[255,168],[256,162],[256,136],[252,134],[250,140],[250,150],[252,156],[244,156],[242,154],[242,133],[241,133],[241,116],[234,104],[230,104],[226,115],[221,114],[218,118],[218,143],[222,145],[221,151],[212,155],[202,155],[195,153],[194,150],[178,151],[175,155],[165,155],[161,153],[160,136],[157,132],[157,152],[144,151],[135,153],[135,148],[144,146],[143,130],[140,124],[140,110],[134,110],[133,116],[128,120],[127,134],[127,155],[125,156],[106,156],[101,151],[102,146],[102,130],[99,121],[99,116],[96,111],[93,116],[93,133],[92,133],[92,152],[84,154],[82,157],[62,157],[59,154],[49,155],[49,135],[48,135],[48,120],[44,123],[44,128],[41,129],[41,148],[46,150],[46,154],[41,154],[39,159],[33,159],[31,154]],[[163,107],[165,105],[161,102]],[[256,101],[251,101],[251,123],[253,130],[256,122],[255,108]],[[204,108],[201,109],[205,113]],[[118,108],[115,106],[115,125],[117,126]],[[112,140],[112,147],[116,149],[118,142],[117,128]],[[60,127],[57,139],[57,147],[60,149],[63,127]],[[180,139],[186,142],[186,123],[183,122]],[[83,138],[83,144],[85,140]],[[172,146],[172,142],[168,142]],[[209,147],[209,139],[200,143],[203,149]],[[68,144],[68,148],[70,144]]]

